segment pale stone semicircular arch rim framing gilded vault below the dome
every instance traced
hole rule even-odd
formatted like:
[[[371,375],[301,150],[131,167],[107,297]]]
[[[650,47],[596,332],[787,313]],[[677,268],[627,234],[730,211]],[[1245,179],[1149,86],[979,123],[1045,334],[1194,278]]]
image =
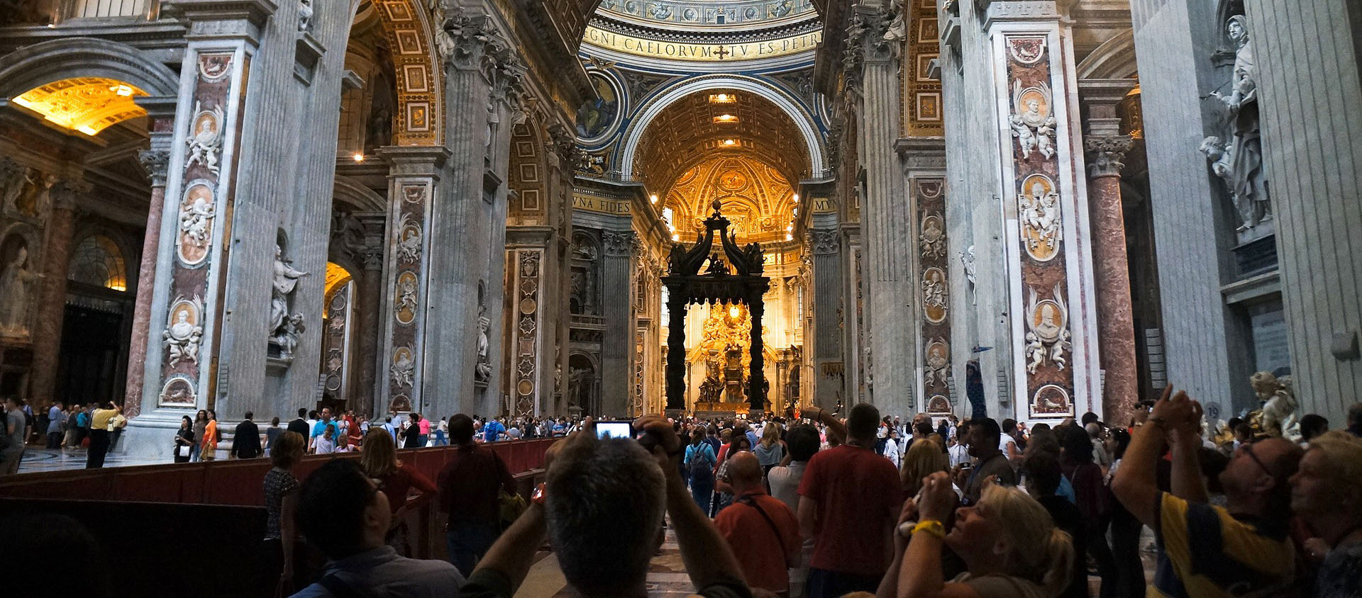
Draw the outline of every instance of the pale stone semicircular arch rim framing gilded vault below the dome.
[[[685,79],[674,86],[670,86],[655,94],[652,98],[648,98],[639,107],[637,116],[632,122],[629,122],[628,129],[625,129],[622,151],[618,154],[621,178],[627,181],[633,178],[635,155],[639,152],[643,135],[648,130],[648,125],[652,124],[652,120],[673,102],[691,94],[710,90],[748,91],[776,105],[776,107],[789,114],[790,120],[793,120],[794,125],[799,129],[799,136],[804,137],[805,151],[809,154],[809,174],[817,178],[828,170],[827,155],[823,150],[823,140],[819,135],[817,125],[814,125],[813,116],[806,109],[801,107],[799,101],[795,96],[756,77],[737,75],[704,75]]]

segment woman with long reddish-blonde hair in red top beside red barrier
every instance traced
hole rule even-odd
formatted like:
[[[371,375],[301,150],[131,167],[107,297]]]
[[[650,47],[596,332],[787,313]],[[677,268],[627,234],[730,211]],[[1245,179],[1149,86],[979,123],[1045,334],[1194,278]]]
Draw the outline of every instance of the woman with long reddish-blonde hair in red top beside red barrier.
[[[388,545],[398,555],[407,555],[407,512],[419,508],[434,499],[436,487],[410,463],[398,461],[396,442],[387,429],[373,428],[364,436],[364,451],[360,453],[360,468],[364,474],[379,482],[379,489],[388,496],[392,510],[392,523],[388,527]]]

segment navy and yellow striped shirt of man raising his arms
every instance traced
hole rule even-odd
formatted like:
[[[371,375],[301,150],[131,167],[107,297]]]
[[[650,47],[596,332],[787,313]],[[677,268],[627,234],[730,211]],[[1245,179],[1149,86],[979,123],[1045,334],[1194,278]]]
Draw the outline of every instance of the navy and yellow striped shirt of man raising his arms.
[[[1159,500],[1159,565],[1147,598],[1279,595],[1295,576],[1295,548],[1280,533],[1220,507]]]

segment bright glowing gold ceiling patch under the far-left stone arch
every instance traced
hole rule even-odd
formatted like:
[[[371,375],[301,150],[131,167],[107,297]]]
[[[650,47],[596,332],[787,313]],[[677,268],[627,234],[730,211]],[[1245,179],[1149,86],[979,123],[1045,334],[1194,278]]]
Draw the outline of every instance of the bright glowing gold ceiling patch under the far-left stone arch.
[[[25,91],[14,102],[63,128],[86,135],[147,114],[132,98],[147,95],[116,79],[75,77]]]

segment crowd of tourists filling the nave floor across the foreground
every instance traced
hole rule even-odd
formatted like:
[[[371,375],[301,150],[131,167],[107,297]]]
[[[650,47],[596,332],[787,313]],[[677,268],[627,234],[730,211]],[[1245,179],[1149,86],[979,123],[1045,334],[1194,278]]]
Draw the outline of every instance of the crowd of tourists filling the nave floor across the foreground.
[[[590,419],[377,423],[323,409],[264,431],[247,413],[230,451],[274,465],[257,571],[276,595],[509,598],[548,542],[573,594],[642,597],[667,530],[708,598],[1087,597],[1090,576],[1100,597],[1362,595],[1362,404],[1346,429],[1302,419],[1301,440],[1257,421],[1207,429],[1173,389],[1144,405],[1130,425],[1090,413],[1030,429],[899,421],[868,404],[846,417],[646,416],[633,438]],[[22,415],[7,401],[11,435]],[[200,421],[187,417],[177,442],[215,438],[215,415]],[[488,443],[534,436],[565,439],[508,516],[515,480]],[[436,442],[454,450],[434,480],[398,459],[399,446]],[[294,476],[331,446],[361,457]],[[406,556],[405,514],[430,502],[448,560]]]

